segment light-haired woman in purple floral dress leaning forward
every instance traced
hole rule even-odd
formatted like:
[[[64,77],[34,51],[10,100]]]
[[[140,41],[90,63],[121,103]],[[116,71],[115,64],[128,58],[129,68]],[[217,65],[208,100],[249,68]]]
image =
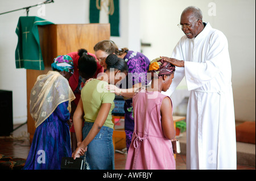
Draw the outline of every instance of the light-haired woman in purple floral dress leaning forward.
[[[100,65],[106,69],[106,57],[109,54],[117,54],[119,58],[123,58],[128,66],[128,75],[119,83],[119,88],[130,89],[132,87],[141,87],[147,84],[147,70],[150,65],[150,60],[144,54],[135,52],[127,48],[119,49],[111,40],[103,40],[94,46],[95,55],[100,62]],[[122,95],[120,92],[119,95]],[[123,95],[122,95],[123,96]],[[134,131],[134,116],[133,116],[133,99],[125,99],[125,133],[126,133],[126,148],[127,151],[131,144],[131,137]]]

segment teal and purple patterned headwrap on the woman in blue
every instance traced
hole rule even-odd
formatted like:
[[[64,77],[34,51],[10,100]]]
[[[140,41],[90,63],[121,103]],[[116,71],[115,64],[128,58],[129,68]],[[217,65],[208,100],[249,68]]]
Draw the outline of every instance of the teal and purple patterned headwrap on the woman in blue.
[[[67,71],[71,74],[74,73],[73,60],[68,55],[60,55],[54,58],[54,62],[52,63],[52,69],[57,69],[60,71]]]

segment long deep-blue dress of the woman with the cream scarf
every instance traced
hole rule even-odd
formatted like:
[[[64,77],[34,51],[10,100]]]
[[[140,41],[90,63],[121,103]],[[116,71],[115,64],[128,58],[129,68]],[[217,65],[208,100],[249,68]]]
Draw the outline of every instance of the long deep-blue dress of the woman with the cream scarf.
[[[60,169],[62,157],[71,157],[69,134],[70,113],[68,101],[59,104],[55,111],[36,128],[24,170]]]

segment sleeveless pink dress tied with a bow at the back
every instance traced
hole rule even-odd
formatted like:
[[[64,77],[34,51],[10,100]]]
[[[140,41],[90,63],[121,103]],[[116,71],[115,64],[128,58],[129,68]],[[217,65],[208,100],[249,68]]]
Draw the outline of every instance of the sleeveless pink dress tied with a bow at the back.
[[[164,137],[161,123],[160,107],[165,97],[144,90],[134,95],[134,133],[125,169],[176,169],[172,143]]]

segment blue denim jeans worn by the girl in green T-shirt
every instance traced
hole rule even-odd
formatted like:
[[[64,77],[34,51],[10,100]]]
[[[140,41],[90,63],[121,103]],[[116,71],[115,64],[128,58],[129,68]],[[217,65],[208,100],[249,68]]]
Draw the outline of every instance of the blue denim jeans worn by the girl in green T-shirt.
[[[83,139],[88,135],[93,123],[84,123]],[[85,170],[114,170],[113,129],[102,127],[100,132],[88,145],[84,154]]]

